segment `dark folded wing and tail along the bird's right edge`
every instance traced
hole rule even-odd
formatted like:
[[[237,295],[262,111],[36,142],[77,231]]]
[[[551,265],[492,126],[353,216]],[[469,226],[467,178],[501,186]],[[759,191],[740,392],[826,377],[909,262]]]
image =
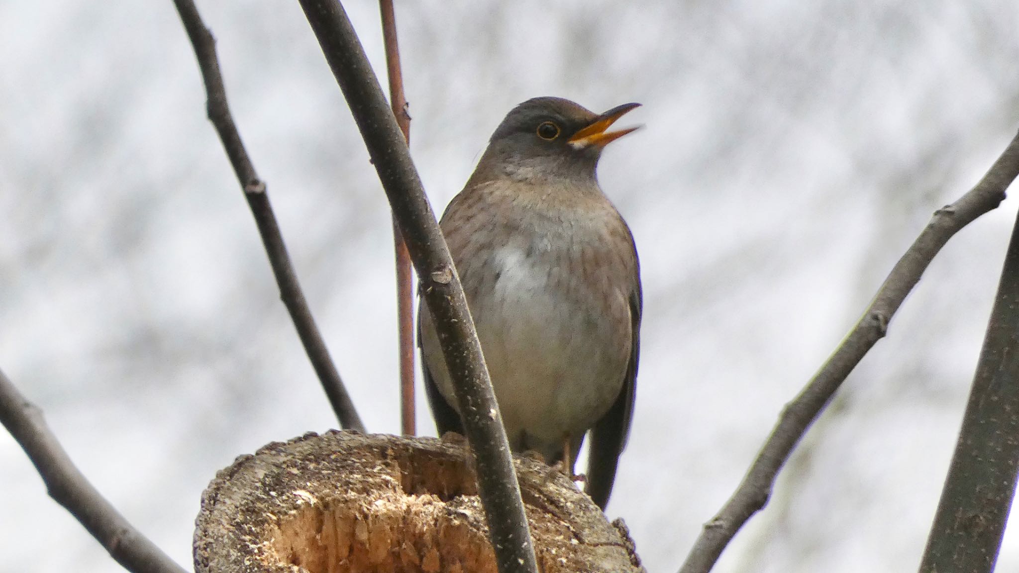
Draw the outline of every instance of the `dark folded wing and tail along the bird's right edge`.
[[[631,239],[632,241],[632,239]],[[636,251],[634,253],[636,258]],[[590,454],[587,462],[587,494],[602,510],[608,504],[612,492],[612,482],[615,481],[615,469],[620,454],[627,446],[630,436],[630,423],[633,420],[634,400],[637,397],[637,361],[640,356],[640,318],[643,308],[643,296],[640,287],[640,272],[637,272],[636,289],[630,296],[631,348],[630,362],[627,365],[626,378],[619,397],[612,407],[591,428]]]

